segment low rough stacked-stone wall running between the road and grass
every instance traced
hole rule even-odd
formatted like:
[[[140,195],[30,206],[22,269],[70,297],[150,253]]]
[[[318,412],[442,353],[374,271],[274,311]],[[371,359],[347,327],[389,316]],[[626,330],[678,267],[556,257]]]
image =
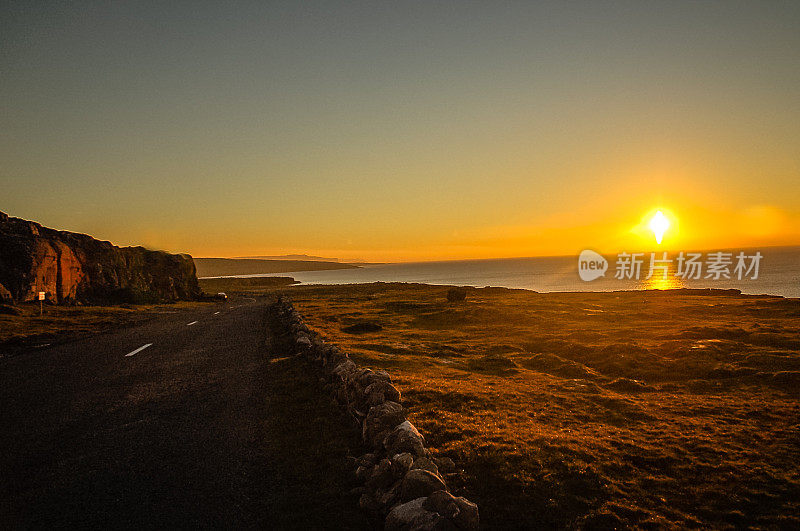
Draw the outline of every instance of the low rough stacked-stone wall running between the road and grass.
[[[437,459],[406,418],[400,391],[385,371],[359,368],[334,345],[325,343],[284,298],[269,308],[294,348],[317,366],[336,401],[358,422],[368,453],[351,458],[363,487],[359,506],[394,530],[475,530],[478,507],[448,492],[444,477],[455,473],[449,458]]]

